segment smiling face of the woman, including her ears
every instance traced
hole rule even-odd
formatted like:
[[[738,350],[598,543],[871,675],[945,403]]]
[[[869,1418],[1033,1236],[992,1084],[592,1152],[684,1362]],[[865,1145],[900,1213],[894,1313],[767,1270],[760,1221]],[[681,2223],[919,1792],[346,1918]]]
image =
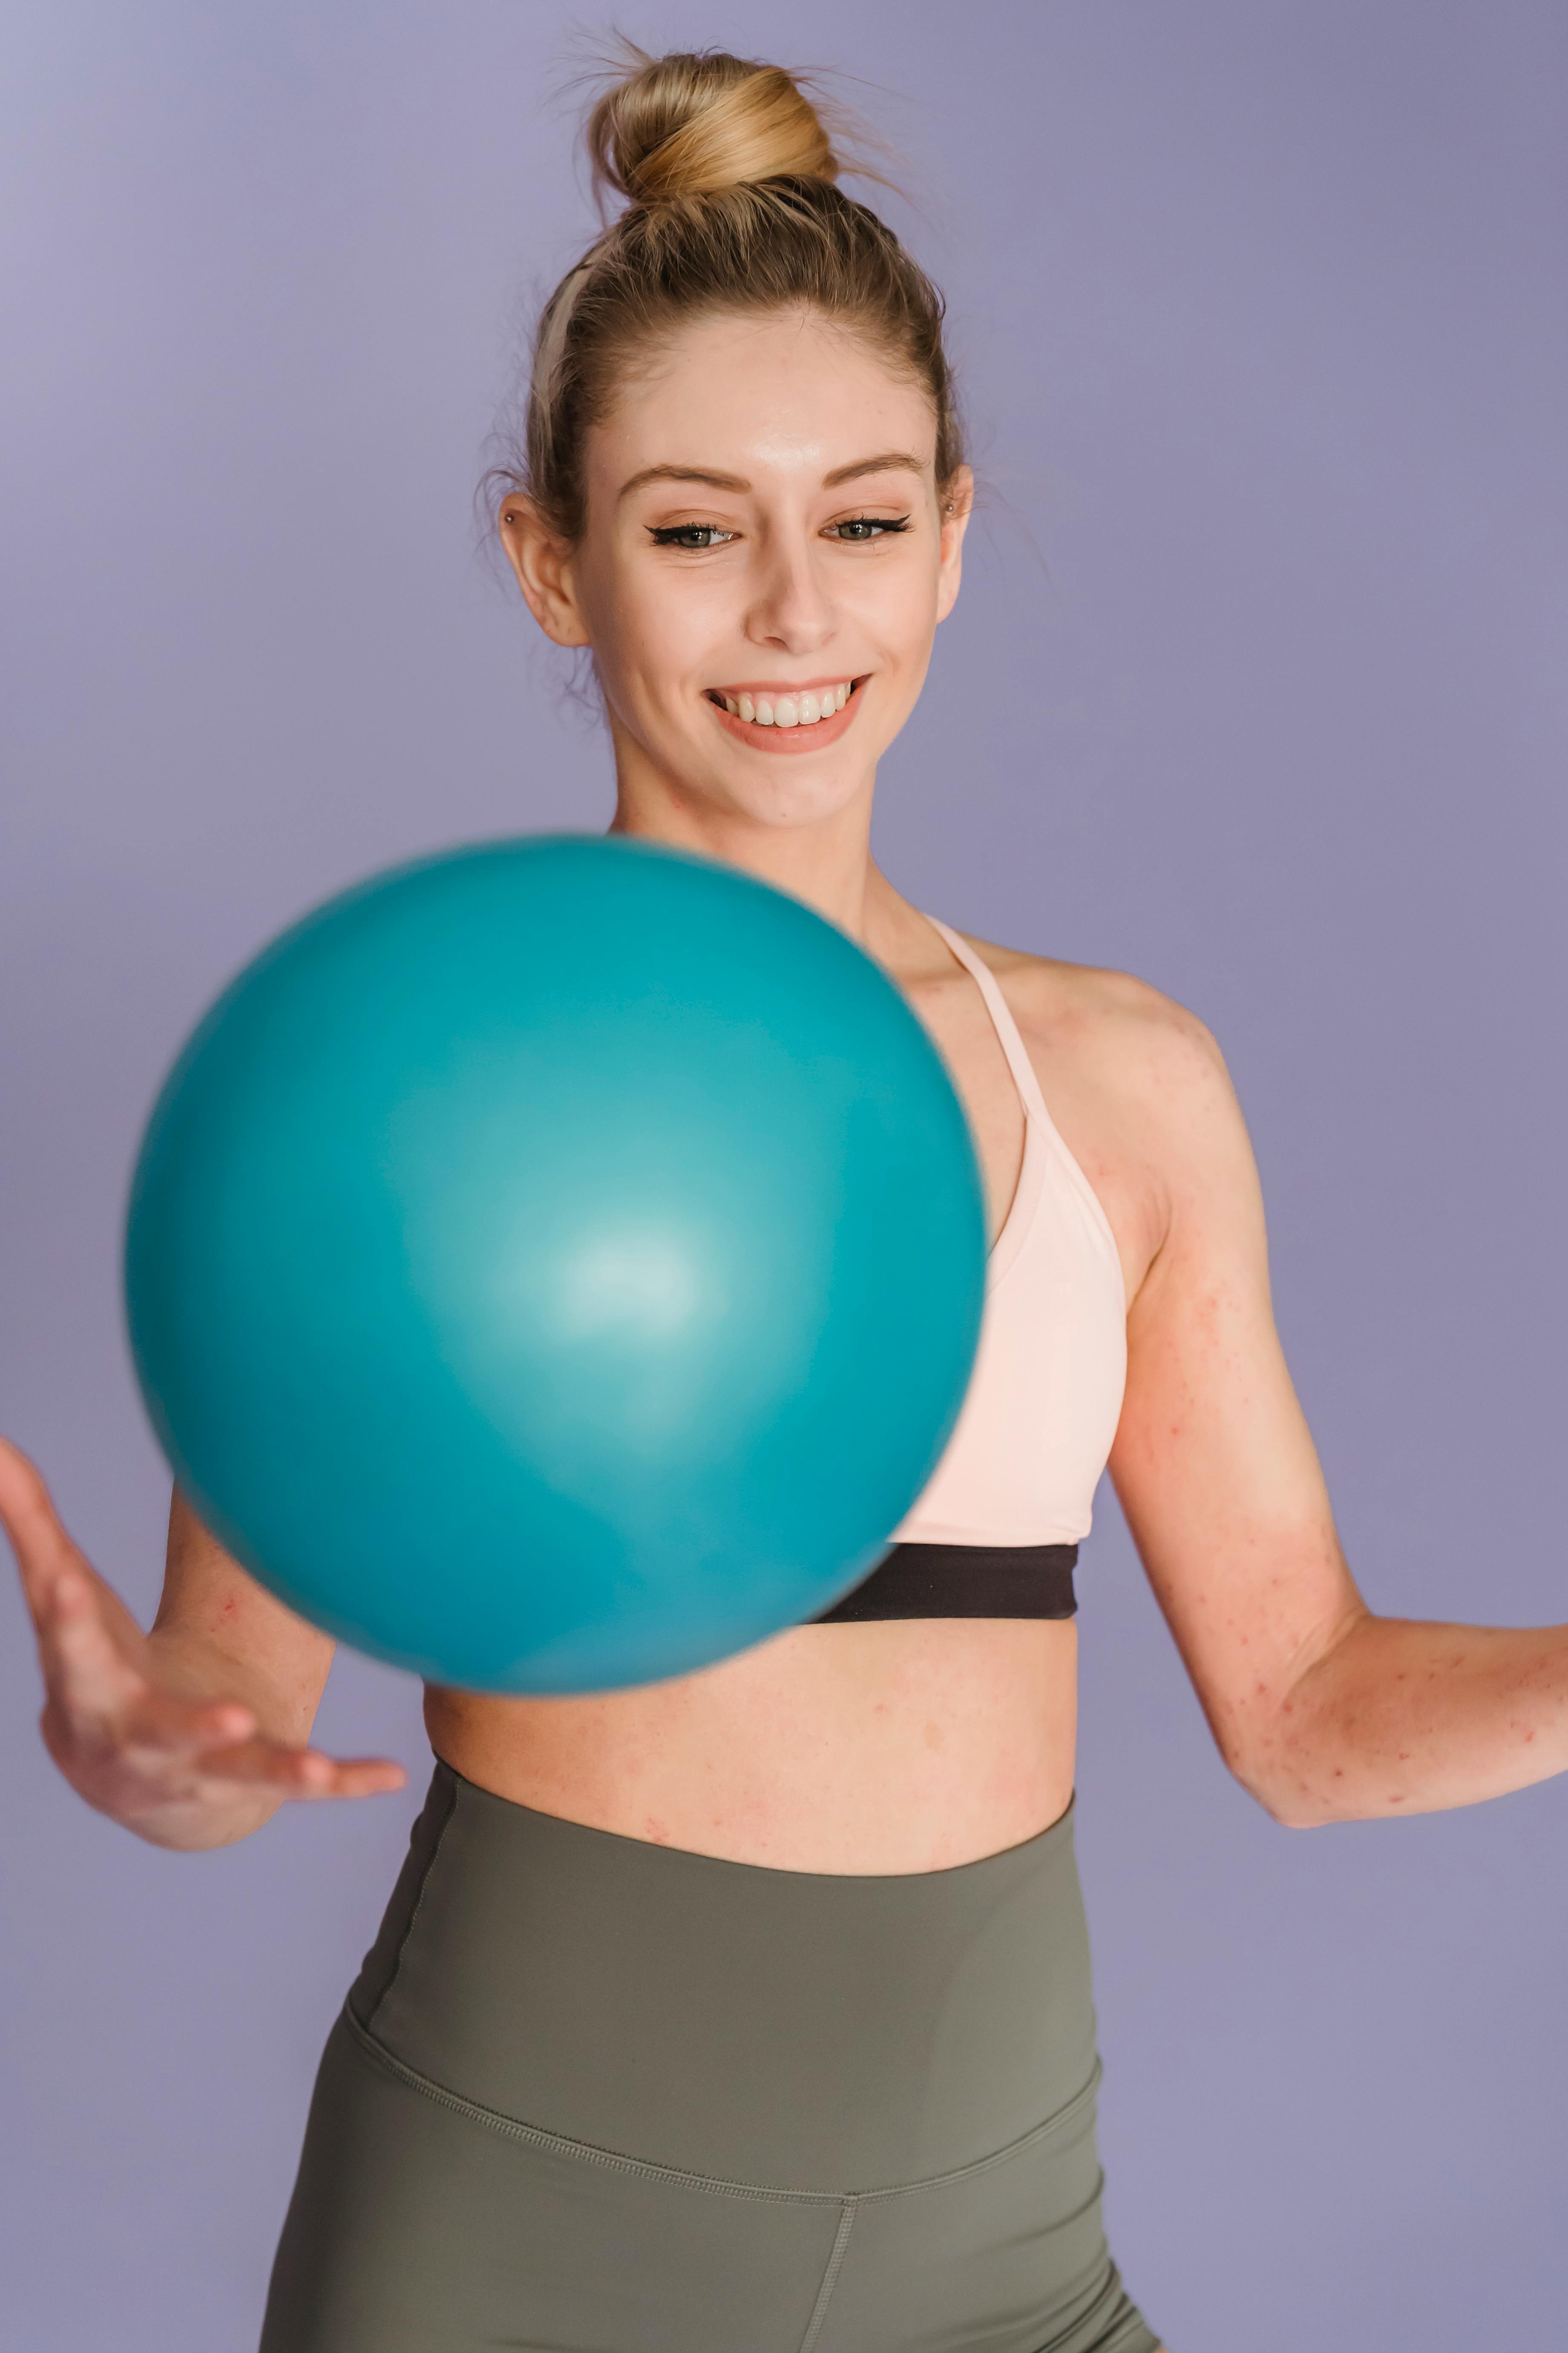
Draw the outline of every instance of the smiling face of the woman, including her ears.
[[[809,826],[870,800],[959,588],[969,475],[938,494],[933,454],[929,395],[865,339],[719,315],[592,428],[574,548],[503,522],[538,621],[592,647],[623,805]]]

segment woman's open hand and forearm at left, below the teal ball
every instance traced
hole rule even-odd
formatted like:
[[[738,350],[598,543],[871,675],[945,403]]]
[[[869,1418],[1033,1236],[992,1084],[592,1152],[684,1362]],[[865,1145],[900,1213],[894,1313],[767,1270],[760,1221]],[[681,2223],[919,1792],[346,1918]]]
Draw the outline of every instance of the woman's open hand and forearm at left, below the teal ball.
[[[331,1638],[249,1577],[174,1492],[150,1633],[61,1527],[35,1464],[0,1438],[12,1539],[45,1678],[40,1729],[71,1786],[155,1847],[228,1847],[284,1798],[402,1788],[388,1758],[310,1748]]]

